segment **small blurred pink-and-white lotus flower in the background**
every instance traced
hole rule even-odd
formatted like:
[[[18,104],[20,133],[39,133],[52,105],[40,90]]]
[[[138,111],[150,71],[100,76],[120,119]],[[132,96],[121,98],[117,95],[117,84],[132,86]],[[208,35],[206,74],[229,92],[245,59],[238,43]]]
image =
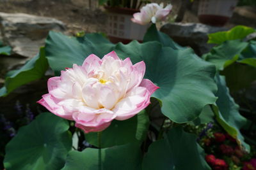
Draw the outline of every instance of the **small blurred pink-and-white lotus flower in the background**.
[[[135,22],[140,25],[147,25],[150,23],[156,23],[157,21],[164,20],[167,15],[172,10],[172,5],[168,4],[163,8],[163,3],[160,5],[157,3],[150,3],[146,6],[143,6],[138,13],[134,13],[132,22]]]

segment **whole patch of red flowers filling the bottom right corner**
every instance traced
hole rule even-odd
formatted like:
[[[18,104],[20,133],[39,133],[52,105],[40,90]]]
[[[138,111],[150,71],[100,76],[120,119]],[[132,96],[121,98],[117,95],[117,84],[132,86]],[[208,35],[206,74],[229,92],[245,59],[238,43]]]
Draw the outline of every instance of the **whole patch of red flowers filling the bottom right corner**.
[[[256,158],[244,162],[248,160],[249,155],[237,145],[235,138],[222,132],[214,132],[213,136],[213,138],[209,136],[202,138],[202,146],[210,153],[205,156],[205,160],[213,170],[227,170],[228,166],[239,168],[243,166],[242,170],[256,170]],[[207,146],[210,145],[212,145],[211,148],[208,148]],[[220,158],[225,157],[228,163],[223,159],[216,159],[215,154]]]

